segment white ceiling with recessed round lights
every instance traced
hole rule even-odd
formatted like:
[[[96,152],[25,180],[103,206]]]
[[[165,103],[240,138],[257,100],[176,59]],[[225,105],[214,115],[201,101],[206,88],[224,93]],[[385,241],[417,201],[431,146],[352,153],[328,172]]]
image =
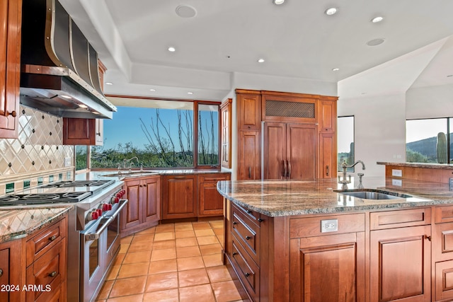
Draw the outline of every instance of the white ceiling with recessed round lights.
[[[106,94],[222,100],[235,88],[236,72],[353,83],[377,69],[374,84],[453,84],[451,0],[60,2],[107,66],[105,81],[113,85]],[[180,5],[195,8],[196,16],[178,16]],[[338,13],[326,16],[331,6]],[[374,16],[384,21],[371,23]],[[376,38],[384,43],[366,45]],[[389,69],[391,79],[376,67],[386,62],[401,65]]]

